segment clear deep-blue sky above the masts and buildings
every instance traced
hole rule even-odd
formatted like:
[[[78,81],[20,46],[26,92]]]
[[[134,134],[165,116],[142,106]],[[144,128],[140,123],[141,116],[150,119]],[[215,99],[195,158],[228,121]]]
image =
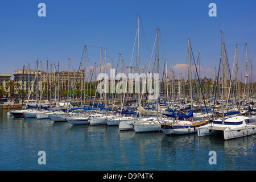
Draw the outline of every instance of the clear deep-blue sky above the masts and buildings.
[[[38,16],[41,2],[46,4],[46,17]],[[216,17],[208,15],[211,2],[217,5]],[[245,43],[249,60],[256,68],[255,5],[255,1],[248,0],[1,1],[0,73],[13,75],[14,69],[27,67],[28,63],[36,68],[36,60],[42,60],[42,70],[46,71],[47,59],[55,64],[60,61],[60,69],[64,71],[68,69],[68,57],[71,69],[78,69],[84,45],[87,46],[86,67],[94,63],[99,66],[99,47],[102,47],[102,57],[107,49],[107,62],[113,58],[114,68],[119,53],[122,53],[125,67],[129,66],[138,14],[141,15],[142,67],[148,67],[156,28],[160,28],[160,57],[163,58],[160,71],[163,71],[163,60],[167,59],[168,69],[175,68],[176,74],[181,72],[179,68],[184,68],[181,64],[188,64],[189,38],[195,59],[198,52],[201,55],[201,75],[214,77],[214,68],[220,60],[220,30],[223,30],[230,66],[236,44],[239,44],[240,68],[244,72]],[[133,66],[136,56],[137,47]]]

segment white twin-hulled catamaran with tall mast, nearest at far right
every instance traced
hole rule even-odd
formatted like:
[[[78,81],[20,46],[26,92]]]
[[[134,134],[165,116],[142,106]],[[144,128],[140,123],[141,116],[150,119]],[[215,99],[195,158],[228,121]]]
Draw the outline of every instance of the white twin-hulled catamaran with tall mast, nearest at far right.
[[[222,73],[224,74],[224,43],[223,32],[221,32],[221,61]],[[224,84],[222,79],[222,97]],[[238,97],[240,97],[238,95]],[[212,123],[199,127],[198,137],[207,135],[223,134],[225,140],[253,135],[256,132],[255,118],[245,117],[242,115],[226,116],[224,113],[224,99],[222,98],[222,117],[215,119]]]

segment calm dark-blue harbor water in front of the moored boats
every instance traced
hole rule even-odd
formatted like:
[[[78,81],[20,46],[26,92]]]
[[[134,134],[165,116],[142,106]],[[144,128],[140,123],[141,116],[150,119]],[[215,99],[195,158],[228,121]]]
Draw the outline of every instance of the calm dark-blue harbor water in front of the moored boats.
[[[252,136],[135,133],[118,126],[13,118],[0,110],[1,171],[255,171],[254,143]],[[39,164],[39,151],[46,164]]]

